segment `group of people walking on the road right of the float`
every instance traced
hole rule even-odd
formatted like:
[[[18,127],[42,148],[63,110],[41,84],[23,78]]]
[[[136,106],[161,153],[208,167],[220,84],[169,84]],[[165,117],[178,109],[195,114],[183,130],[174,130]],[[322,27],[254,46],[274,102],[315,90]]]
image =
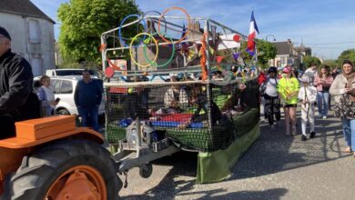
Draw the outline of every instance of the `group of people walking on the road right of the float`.
[[[319,70],[317,70],[319,68]],[[263,77],[264,76],[264,77]],[[347,147],[344,152],[355,150],[355,68],[350,60],[344,60],[341,73],[338,68],[330,70],[329,65],[310,65],[301,75],[287,65],[278,76],[277,68],[269,67],[268,74],[259,74],[259,85],[264,105],[264,116],[271,129],[275,130],[280,119],[279,107],[285,114],[285,135],[296,135],[296,108],[301,106],[301,141],[316,135],[315,106],[318,117],[327,119],[330,110],[330,95],[333,96],[334,114],[341,119]],[[276,123],[274,122],[276,119]],[[355,153],[354,153],[355,156]]]

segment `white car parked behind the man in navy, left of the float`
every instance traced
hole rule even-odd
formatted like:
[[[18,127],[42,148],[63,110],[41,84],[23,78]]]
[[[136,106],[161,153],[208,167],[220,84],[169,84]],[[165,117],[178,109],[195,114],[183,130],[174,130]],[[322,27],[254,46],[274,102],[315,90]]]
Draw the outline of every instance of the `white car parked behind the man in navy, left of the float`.
[[[40,77],[35,77],[35,81]],[[60,98],[58,105],[56,105],[56,113],[58,115],[78,115],[76,103],[74,101],[74,93],[76,84],[82,78],[78,76],[56,76],[50,77],[51,85],[53,87],[55,97]],[[93,78],[93,81],[98,81],[103,84],[101,79]],[[105,98],[102,95],[102,101],[98,107],[98,115],[105,114]]]

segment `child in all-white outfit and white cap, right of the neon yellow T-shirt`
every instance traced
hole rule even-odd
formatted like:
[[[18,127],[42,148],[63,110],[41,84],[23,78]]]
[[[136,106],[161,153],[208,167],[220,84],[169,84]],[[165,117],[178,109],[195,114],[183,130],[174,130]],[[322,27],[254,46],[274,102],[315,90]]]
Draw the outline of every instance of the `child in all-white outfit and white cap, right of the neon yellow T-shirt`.
[[[316,133],[314,132],[314,103],[317,100],[317,89],[311,83],[312,76],[309,73],[302,75],[299,78],[302,86],[299,88],[299,101],[301,102],[301,122],[302,122],[302,136],[301,141],[306,141],[306,125],[309,122],[310,135],[313,138]]]

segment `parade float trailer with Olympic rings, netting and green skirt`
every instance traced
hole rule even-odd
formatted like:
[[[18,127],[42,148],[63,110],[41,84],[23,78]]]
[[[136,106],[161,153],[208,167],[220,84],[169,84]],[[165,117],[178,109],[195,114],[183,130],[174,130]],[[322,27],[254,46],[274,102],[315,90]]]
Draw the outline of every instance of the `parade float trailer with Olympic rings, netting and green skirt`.
[[[239,56],[246,39],[179,7],[127,15],[102,34],[106,139],[121,172],[144,166],[148,177],[151,161],[185,150],[198,152],[197,183],[228,178],[259,137],[257,72],[246,75],[253,64]]]

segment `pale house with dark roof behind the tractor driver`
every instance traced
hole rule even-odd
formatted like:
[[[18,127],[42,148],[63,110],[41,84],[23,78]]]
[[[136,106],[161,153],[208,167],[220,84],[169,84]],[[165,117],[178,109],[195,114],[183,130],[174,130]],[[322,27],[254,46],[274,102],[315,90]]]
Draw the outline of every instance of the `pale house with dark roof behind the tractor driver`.
[[[12,51],[27,59],[34,75],[56,67],[54,24],[29,0],[0,1],[0,26],[11,35]]]

